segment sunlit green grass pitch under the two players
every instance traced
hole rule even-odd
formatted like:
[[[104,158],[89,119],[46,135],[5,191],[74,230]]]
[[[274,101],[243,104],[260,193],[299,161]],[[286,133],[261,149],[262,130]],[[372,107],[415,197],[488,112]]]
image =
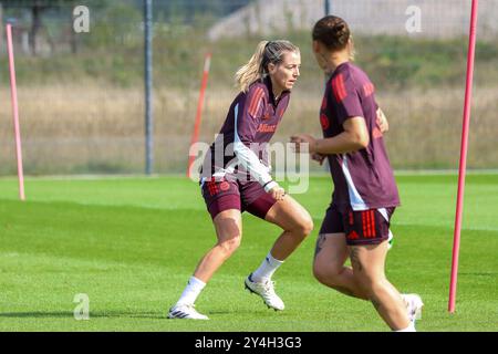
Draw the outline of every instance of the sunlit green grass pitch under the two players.
[[[456,175],[398,175],[387,277],[417,292],[418,331],[498,331],[498,175],[467,177],[456,313],[447,312]],[[279,229],[243,216],[243,238],[205,289],[210,321],[167,320],[199,258],[215,242],[198,186],[181,177],[0,179],[0,331],[387,331],[369,302],[312,278],[330,177],[294,196],[315,230],[274,275],[286,302],[268,310],[243,290]],[[76,321],[74,295],[90,298]]]

